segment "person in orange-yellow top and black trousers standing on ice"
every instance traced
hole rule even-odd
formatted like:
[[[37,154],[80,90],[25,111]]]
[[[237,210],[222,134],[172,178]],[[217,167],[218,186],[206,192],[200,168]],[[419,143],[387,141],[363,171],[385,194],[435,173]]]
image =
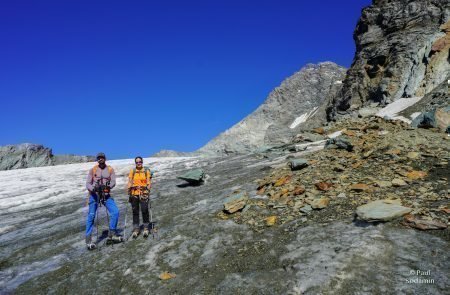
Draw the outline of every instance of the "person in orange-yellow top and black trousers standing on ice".
[[[142,235],[147,238],[150,231],[149,220],[149,198],[150,189],[152,187],[152,173],[150,169],[144,167],[142,157],[138,156],[134,159],[136,168],[131,169],[128,175],[128,195],[131,208],[133,209],[133,233],[132,237],[137,238],[140,232],[139,223],[139,207],[142,212],[142,221],[144,223],[144,230]]]

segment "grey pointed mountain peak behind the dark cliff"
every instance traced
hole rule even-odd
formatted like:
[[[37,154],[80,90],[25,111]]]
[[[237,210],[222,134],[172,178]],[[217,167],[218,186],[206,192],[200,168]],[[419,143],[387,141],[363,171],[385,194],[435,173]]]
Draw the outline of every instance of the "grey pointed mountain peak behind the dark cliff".
[[[344,75],[345,69],[332,62],[305,66],[275,88],[252,114],[198,152],[243,153],[262,146],[288,143],[295,134],[295,128],[290,128],[295,119],[322,106],[333,84]]]

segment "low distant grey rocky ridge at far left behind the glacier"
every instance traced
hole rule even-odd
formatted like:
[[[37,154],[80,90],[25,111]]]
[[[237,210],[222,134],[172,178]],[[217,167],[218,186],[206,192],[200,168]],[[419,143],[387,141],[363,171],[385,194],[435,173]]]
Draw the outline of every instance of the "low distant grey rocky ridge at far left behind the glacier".
[[[91,156],[53,155],[50,148],[40,144],[23,143],[0,147],[0,170],[12,170],[50,165],[93,161]]]

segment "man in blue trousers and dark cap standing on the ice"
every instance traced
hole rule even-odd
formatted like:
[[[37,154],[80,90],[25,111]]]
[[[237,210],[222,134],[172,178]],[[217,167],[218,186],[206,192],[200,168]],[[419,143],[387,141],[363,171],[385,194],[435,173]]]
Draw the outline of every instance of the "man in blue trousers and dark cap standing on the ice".
[[[98,207],[104,205],[108,210],[109,234],[107,242],[120,243],[123,238],[117,235],[117,223],[119,221],[119,208],[117,208],[110,191],[116,186],[116,174],[114,169],[106,165],[104,153],[97,154],[98,165],[89,170],[86,180],[86,188],[89,191],[89,213],[86,220],[86,247],[88,250],[96,248],[92,242],[92,230]],[[98,214],[97,214],[98,215]]]

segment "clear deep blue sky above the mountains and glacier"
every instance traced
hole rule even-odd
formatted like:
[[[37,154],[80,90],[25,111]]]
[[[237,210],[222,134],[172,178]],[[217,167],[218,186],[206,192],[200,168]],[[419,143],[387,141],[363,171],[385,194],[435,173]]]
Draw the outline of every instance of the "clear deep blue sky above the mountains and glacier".
[[[0,145],[193,151],[307,63],[349,67],[358,1],[2,1]]]

